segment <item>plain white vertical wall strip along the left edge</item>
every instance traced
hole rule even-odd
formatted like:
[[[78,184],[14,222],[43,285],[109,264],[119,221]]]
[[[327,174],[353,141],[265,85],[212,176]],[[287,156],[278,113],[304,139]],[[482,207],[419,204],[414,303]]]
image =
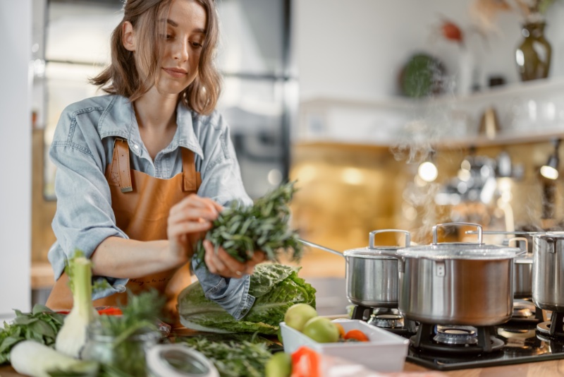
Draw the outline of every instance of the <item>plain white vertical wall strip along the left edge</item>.
[[[30,310],[31,0],[0,0],[0,318]]]

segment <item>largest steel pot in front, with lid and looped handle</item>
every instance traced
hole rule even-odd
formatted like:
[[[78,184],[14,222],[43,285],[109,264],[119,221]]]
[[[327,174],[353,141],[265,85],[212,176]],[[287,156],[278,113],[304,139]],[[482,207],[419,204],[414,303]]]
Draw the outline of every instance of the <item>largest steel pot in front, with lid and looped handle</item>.
[[[478,228],[477,243],[437,242],[446,225]],[[398,309],[422,323],[487,326],[513,313],[513,258],[517,248],[482,243],[482,227],[454,222],[433,227],[433,243],[398,250]]]

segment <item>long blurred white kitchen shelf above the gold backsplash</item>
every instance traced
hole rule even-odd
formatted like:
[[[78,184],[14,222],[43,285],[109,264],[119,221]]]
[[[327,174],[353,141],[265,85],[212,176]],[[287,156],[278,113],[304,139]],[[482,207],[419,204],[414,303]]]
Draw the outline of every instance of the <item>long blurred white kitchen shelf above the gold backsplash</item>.
[[[494,138],[479,133],[482,114],[489,108],[500,124]],[[539,143],[564,136],[564,77],[513,83],[462,97],[313,97],[300,103],[295,134],[298,143],[381,147]]]

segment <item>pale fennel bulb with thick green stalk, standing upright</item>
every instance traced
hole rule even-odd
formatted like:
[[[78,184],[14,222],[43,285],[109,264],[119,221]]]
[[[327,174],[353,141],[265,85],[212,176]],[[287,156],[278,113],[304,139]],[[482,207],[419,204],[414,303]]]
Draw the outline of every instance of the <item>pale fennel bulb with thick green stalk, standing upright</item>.
[[[92,306],[92,262],[81,251],[68,261],[67,274],[73,292],[73,309],[65,318],[55,340],[55,349],[79,358],[86,343],[87,327],[98,316]]]

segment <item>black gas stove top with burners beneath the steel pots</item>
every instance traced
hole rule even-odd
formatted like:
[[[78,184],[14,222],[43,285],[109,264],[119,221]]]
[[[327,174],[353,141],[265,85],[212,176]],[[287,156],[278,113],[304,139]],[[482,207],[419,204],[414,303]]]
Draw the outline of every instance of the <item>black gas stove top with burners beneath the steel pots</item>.
[[[374,311],[373,319],[378,312]],[[537,309],[537,313],[541,311]],[[371,323],[369,318],[364,319]],[[417,323],[415,333],[413,327],[403,332],[386,330],[410,340],[407,361],[452,371],[564,359],[563,321],[564,313],[553,313],[548,323],[537,315],[515,316],[507,323],[487,328]]]

